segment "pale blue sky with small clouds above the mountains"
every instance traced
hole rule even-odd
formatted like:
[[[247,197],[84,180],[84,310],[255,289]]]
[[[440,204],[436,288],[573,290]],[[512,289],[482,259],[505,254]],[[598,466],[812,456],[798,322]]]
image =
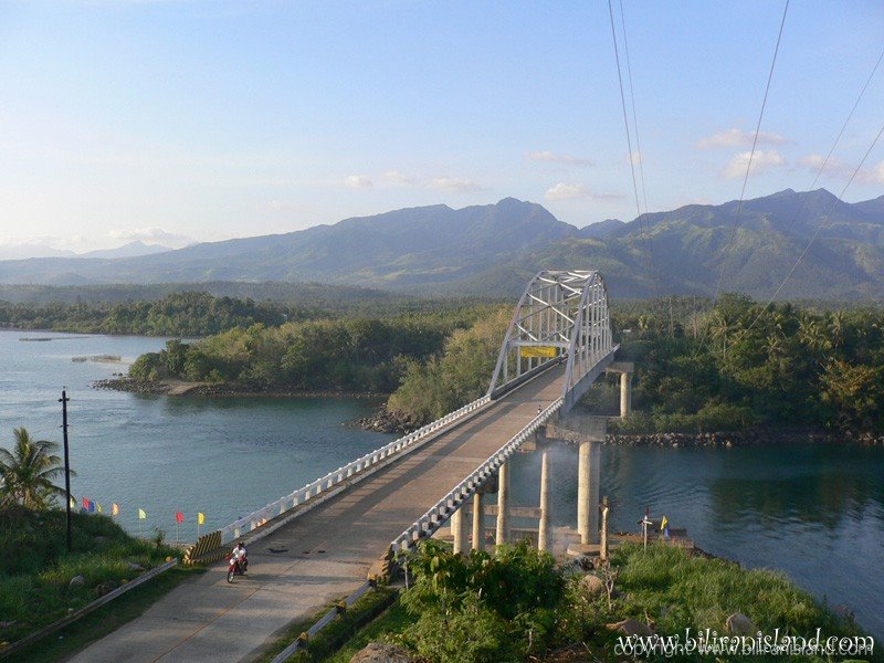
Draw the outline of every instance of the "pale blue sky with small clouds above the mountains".
[[[635,188],[607,0],[0,0],[0,257],[738,199],[785,2],[620,2]],[[747,198],[811,187],[882,51],[880,0],[791,0]],[[817,186],[882,123],[884,63]],[[844,199],[882,193],[884,139]]]

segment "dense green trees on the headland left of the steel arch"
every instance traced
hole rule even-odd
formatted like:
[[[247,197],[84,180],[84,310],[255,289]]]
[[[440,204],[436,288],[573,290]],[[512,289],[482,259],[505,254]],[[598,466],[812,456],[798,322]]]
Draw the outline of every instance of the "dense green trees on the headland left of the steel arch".
[[[389,319],[339,318],[235,327],[193,344],[167,343],[139,357],[136,380],[179,378],[253,390],[336,390],[389,393],[410,362],[438,352],[482,308]]]

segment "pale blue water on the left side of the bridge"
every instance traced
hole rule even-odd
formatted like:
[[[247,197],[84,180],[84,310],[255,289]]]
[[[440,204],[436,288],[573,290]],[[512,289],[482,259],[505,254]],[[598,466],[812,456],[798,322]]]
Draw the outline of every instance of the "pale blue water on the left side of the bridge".
[[[207,529],[222,527],[393,438],[346,425],[377,407],[366,400],[169,398],[91,388],[165,341],[0,330],[0,445],[11,448],[20,425],[61,443],[59,398],[66,387],[77,502],[87,497],[105,513],[116,503],[118,522],[130,532],[159,527],[189,540],[198,512]],[[120,356],[124,364],[72,361],[94,355]]]

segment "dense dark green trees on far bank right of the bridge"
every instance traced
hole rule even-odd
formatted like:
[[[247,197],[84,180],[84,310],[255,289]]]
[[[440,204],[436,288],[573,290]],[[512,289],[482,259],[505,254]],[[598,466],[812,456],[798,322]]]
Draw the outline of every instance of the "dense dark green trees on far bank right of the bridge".
[[[715,309],[633,312],[638,413],[621,429],[709,431],[754,424],[884,431],[884,312],[764,308],[728,295]],[[662,309],[662,311],[661,311]]]

